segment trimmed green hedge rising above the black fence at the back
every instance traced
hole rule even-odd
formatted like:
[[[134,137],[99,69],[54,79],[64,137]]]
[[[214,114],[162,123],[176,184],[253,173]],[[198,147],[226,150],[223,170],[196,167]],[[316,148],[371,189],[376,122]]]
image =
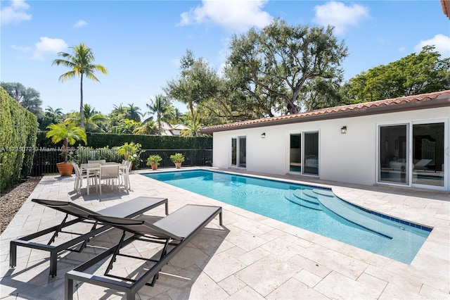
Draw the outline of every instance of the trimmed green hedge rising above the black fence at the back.
[[[46,132],[38,132],[37,146],[53,148],[51,139],[45,137]],[[212,149],[212,137],[169,137],[160,135],[120,135],[114,133],[87,132],[87,145],[94,149],[122,146],[125,142],[135,142],[142,149]],[[62,142],[61,142],[62,144]],[[75,145],[74,145],[75,146]]]

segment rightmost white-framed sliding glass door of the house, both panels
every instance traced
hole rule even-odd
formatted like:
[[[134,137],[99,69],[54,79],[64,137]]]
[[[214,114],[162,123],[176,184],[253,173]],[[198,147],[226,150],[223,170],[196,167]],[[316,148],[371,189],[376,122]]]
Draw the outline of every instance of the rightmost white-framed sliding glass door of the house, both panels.
[[[381,125],[378,182],[445,188],[448,135],[445,122]]]

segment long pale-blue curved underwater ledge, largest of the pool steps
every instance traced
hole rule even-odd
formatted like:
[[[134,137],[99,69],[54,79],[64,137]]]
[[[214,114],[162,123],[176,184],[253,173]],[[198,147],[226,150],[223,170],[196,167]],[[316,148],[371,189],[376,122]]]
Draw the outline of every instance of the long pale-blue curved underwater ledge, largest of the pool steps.
[[[325,194],[321,194],[321,196],[319,196],[318,199],[323,206],[328,208],[336,215],[339,215],[341,218],[344,218],[345,220],[348,220],[351,223],[364,227],[367,230],[376,232],[379,235],[392,238],[392,233],[390,233],[390,231],[388,230],[389,227],[384,226],[383,223],[368,218],[365,215],[362,215],[361,213],[358,213],[357,211],[355,211],[358,208],[352,208],[351,206],[345,205],[344,203],[342,203],[342,200],[336,198],[335,196],[328,196]]]

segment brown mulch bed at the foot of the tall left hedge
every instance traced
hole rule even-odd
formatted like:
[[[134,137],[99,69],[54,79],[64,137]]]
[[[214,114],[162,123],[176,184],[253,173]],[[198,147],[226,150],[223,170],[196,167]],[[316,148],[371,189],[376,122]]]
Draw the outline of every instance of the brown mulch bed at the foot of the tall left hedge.
[[[41,177],[32,177],[10,187],[0,195],[0,234],[13,220],[15,213],[19,211],[40,180]]]

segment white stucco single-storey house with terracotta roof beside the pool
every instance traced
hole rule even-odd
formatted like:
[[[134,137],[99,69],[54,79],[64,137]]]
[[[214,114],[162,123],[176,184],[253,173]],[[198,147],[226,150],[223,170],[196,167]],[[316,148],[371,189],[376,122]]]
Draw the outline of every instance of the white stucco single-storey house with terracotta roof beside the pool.
[[[203,128],[213,166],[449,191],[450,90]]]

